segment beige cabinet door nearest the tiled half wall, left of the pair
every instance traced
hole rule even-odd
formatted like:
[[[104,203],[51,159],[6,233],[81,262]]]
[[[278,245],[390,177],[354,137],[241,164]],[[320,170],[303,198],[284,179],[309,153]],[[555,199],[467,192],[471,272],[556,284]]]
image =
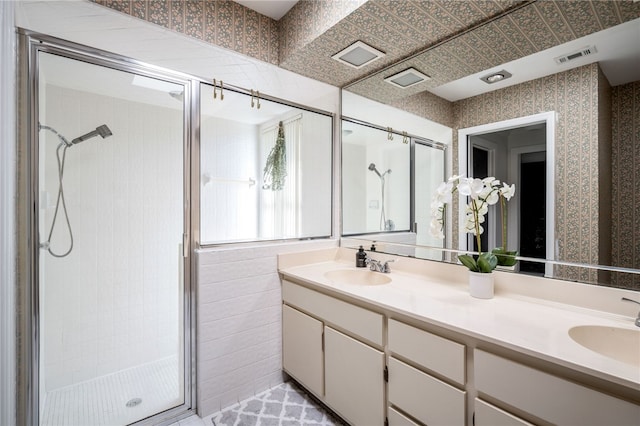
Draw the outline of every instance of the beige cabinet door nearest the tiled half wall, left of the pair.
[[[287,305],[282,307],[284,370],[317,396],[323,395],[321,321]]]

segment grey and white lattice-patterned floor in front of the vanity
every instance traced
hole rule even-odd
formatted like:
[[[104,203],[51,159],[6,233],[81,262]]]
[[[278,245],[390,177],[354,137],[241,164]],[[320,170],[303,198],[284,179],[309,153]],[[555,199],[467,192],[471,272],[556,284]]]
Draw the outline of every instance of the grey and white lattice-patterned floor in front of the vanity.
[[[345,425],[294,382],[283,383],[226,408],[211,416],[211,423],[213,426]]]

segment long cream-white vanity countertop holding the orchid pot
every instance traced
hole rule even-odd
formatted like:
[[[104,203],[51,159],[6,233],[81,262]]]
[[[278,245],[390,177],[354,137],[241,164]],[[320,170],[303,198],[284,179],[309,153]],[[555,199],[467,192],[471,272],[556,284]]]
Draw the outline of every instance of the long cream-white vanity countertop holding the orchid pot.
[[[493,299],[476,299],[469,295],[464,279],[460,279],[466,275],[464,267],[430,262],[429,268],[447,270],[434,270],[433,275],[418,274],[415,265],[409,263],[424,261],[415,259],[400,258],[398,263],[392,263],[392,271],[388,274],[391,282],[388,284],[335,283],[325,277],[327,271],[361,268],[355,267],[355,251],[342,248],[333,249],[333,256],[331,253],[331,250],[323,250],[311,255],[302,254],[298,258],[296,254],[285,255],[279,259],[279,271],[285,278],[302,281],[318,289],[350,296],[381,309],[640,391],[640,368],[593,352],[574,342],[568,334],[569,329],[579,325],[637,329],[633,317],[514,294],[506,288],[509,284],[498,285],[498,280]],[[376,258],[393,256],[376,254]],[[514,274],[506,277],[519,279]],[[501,286],[505,287],[504,291]],[[573,289],[579,290],[580,287]],[[618,289],[601,291],[627,294]],[[614,297],[619,297],[619,294],[614,293]]]

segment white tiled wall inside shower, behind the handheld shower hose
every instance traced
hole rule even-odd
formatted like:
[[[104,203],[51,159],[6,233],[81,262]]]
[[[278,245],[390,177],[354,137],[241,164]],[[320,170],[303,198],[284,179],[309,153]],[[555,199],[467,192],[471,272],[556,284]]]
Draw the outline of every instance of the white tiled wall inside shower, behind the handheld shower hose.
[[[113,132],[67,150],[74,249],[65,258],[40,252],[41,374],[52,390],[180,353],[183,138],[180,110],[56,86],[46,93],[42,124],[67,139],[104,123]],[[40,137],[49,193],[40,208],[43,241],[57,194],[59,140],[44,130]],[[68,246],[61,212],[58,220],[52,247],[61,252]]]

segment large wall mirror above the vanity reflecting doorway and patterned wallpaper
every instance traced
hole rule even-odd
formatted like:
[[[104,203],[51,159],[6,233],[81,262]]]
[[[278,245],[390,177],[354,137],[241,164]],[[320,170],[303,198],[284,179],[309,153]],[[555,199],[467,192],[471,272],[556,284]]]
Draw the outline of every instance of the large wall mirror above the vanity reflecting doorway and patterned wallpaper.
[[[527,31],[537,33],[542,31],[538,28],[541,26],[548,32],[551,18],[543,12],[549,7],[550,3],[526,4],[347,85],[343,90],[343,115],[360,112],[366,122],[398,130],[414,128],[416,122],[424,120],[429,124],[415,134],[447,147],[444,179],[453,174],[486,173],[516,183],[518,196],[509,206],[508,248],[517,250],[521,260],[531,261],[531,265],[519,264],[526,266],[521,273],[640,290],[640,182],[634,172],[640,168],[637,148],[634,151],[640,134],[640,53],[637,43],[628,43],[640,35],[638,4],[609,5],[612,13],[623,17],[622,23],[602,31],[577,31],[579,20],[568,19],[565,26],[573,31],[571,37],[556,37],[545,49],[520,52],[510,61],[500,62],[500,55],[488,59],[494,44],[499,44],[497,36],[485,40],[488,49],[483,58],[473,49],[461,50],[489,34],[489,27],[492,34],[501,32],[501,37],[508,32],[506,29],[523,28],[531,13],[538,17],[527,21]],[[565,17],[571,14],[563,10],[561,2],[553,2],[553,7]],[[601,18],[604,9],[595,8],[593,13]],[[510,43],[520,40],[514,34]],[[578,59],[562,56],[585,46],[595,48],[581,53]],[[442,77],[441,70],[436,69],[445,63],[447,69],[460,64],[461,58],[466,67],[456,75],[451,71],[451,78]],[[475,69],[481,60],[485,65]],[[411,67],[432,79],[422,83],[423,87],[418,83],[405,92],[385,81]],[[492,70],[506,70],[503,74],[507,78],[494,84],[482,81],[481,77]],[[433,136],[425,131],[431,125],[442,126],[442,133]],[[343,134],[343,147],[348,144]],[[353,167],[366,172],[369,163],[360,163],[354,162]],[[345,176],[351,164],[343,158]],[[416,185],[414,175],[410,176],[409,187],[412,185]],[[428,210],[429,191],[419,192],[415,194],[416,211]],[[419,203],[427,207],[418,207]],[[345,215],[353,213],[349,203],[344,209]],[[445,250],[426,257],[455,259],[452,252],[472,250],[468,235],[459,230],[459,203],[454,203],[453,210],[447,219]],[[420,251],[432,253],[427,248],[437,248],[438,242],[418,242],[415,226],[417,223],[419,230],[421,221],[416,218],[414,215],[415,222],[407,231],[410,237],[401,239],[388,229],[380,229],[373,235],[363,231],[358,238],[376,240],[379,250],[380,241],[400,242],[401,254],[422,257]],[[496,231],[487,238],[492,239],[489,245],[499,246],[501,233],[498,226],[494,227]],[[529,231],[532,234],[527,234]],[[354,233],[343,234],[356,237]],[[407,248],[411,238],[415,239],[413,251]],[[395,250],[392,244],[388,246],[389,251]]]

